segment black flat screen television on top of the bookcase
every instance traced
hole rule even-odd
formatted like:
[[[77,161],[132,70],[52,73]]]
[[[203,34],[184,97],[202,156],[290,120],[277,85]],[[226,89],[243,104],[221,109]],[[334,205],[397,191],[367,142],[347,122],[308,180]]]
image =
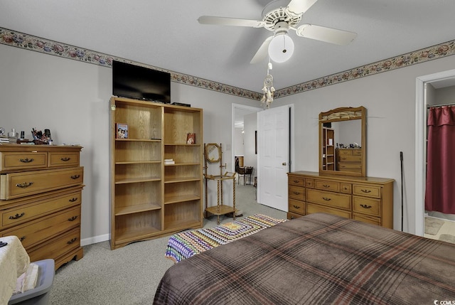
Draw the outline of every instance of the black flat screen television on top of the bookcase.
[[[171,73],[114,60],[112,95],[170,103]]]

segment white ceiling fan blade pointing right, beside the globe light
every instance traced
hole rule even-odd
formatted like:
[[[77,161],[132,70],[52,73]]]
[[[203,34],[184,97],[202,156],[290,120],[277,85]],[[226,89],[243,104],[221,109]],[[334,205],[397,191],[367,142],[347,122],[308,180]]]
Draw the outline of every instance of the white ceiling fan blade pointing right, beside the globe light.
[[[357,33],[341,31],[336,28],[326,28],[325,26],[315,26],[314,24],[302,24],[296,28],[297,36],[334,43],[340,46],[346,46],[357,37]]]

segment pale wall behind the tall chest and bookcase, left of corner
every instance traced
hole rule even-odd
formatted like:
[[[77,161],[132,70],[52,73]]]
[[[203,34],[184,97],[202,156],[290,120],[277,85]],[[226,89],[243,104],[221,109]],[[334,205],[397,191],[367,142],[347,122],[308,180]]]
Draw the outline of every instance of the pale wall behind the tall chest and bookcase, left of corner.
[[[82,245],[109,239],[109,98],[112,70],[0,44],[0,127],[50,129],[54,144],[84,148]],[[173,102],[203,108],[203,141],[223,143],[230,164],[232,103],[259,102],[198,87],[171,84]],[[215,187],[216,189],[216,187]]]

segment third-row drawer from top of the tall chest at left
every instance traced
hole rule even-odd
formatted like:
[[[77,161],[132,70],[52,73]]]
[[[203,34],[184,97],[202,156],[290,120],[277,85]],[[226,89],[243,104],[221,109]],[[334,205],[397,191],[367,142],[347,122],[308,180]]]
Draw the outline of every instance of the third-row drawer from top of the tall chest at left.
[[[81,191],[65,194],[49,198],[46,200],[38,201],[38,203],[22,205],[17,208],[10,208],[2,210],[1,213],[1,226],[0,228],[10,227],[12,225],[20,225],[26,221],[33,220],[38,217],[43,217],[55,210],[62,210],[72,205],[79,205],[81,203]]]

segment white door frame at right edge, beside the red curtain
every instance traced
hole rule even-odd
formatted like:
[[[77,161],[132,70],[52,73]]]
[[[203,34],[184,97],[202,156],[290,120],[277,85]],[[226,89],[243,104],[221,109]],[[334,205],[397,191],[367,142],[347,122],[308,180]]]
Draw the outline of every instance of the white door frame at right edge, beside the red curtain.
[[[427,162],[427,105],[433,104],[429,90],[455,86],[455,70],[424,75],[416,79],[416,141],[415,141],[415,234],[424,236],[424,198]]]

